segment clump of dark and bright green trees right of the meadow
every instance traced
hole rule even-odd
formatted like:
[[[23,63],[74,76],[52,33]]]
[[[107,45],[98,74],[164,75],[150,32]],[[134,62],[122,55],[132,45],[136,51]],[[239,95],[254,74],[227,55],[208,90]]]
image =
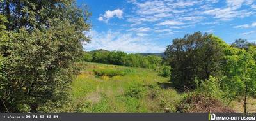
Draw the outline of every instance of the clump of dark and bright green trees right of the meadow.
[[[232,46],[212,34],[195,32],[184,38],[174,39],[166,49],[166,57],[172,67],[170,82],[181,92],[195,90],[205,84],[211,88],[210,77],[215,78],[213,95],[230,103],[244,97],[244,113],[247,113],[247,97],[255,97],[255,44],[238,39]],[[222,93],[217,93],[222,92]],[[216,97],[215,97],[216,98]]]

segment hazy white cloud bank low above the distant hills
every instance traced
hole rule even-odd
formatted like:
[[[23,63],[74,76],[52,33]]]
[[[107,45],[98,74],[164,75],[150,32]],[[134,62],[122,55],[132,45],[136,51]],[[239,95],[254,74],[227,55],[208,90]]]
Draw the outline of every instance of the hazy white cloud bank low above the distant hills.
[[[164,52],[165,46],[159,46],[153,43],[150,38],[143,36],[134,36],[132,33],[122,34],[120,32],[97,32],[91,31],[92,41],[84,48],[86,50],[120,50],[128,53],[141,52]]]

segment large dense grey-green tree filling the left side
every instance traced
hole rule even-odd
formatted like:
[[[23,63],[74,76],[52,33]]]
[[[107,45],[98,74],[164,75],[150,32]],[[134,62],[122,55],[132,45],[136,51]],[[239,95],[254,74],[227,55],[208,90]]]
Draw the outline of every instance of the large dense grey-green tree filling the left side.
[[[0,94],[4,112],[47,111],[60,106],[76,69],[83,32],[90,29],[85,10],[74,1],[15,1],[0,3],[8,40],[1,38]],[[2,22],[1,22],[2,25]],[[2,31],[1,31],[2,32]]]

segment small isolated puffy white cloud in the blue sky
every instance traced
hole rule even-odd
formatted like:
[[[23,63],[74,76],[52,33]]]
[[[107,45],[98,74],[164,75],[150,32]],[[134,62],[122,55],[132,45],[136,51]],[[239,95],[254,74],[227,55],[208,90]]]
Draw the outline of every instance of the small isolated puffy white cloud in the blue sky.
[[[113,10],[113,11],[107,10],[104,13],[104,15],[100,15],[98,20],[108,23],[108,21],[113,17],[117,17],[119,19],[123,18],[123,10],[120,10],[120,9],[116,9],[116,10]]]

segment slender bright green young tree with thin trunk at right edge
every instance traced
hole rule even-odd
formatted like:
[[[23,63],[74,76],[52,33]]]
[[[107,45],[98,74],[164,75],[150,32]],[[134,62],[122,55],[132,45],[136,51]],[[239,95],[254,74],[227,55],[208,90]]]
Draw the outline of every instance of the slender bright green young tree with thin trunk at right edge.
[[[221,85],[225,96],[234,99],[244,97],[244,113],[247,113],[247,97],[256,96],[255,46],[226,48]]]

